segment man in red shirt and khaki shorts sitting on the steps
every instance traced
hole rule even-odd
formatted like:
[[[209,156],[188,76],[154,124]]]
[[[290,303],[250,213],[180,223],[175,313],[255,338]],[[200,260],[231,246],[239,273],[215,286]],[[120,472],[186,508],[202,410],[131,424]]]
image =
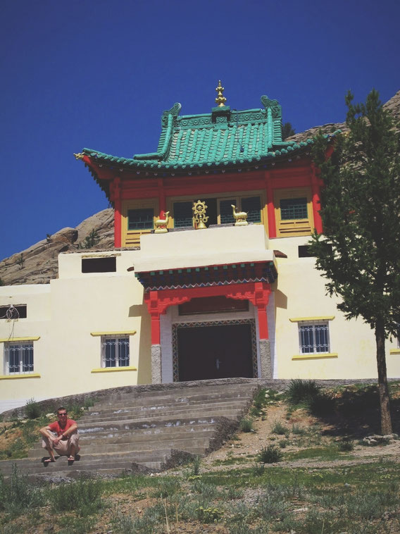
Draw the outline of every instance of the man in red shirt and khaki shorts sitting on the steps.
[[[68,461],[75,460],[75,454],[79,452],[79,435],[77,423],[67,418],[67,411],[63,406],[57,410],[58,421],[50,423],[39,430],[42,434],[42,447],[47,449],[50,457],[44,460],[45,464],[56,461],[54,451],[59,456],[68,456]]]

